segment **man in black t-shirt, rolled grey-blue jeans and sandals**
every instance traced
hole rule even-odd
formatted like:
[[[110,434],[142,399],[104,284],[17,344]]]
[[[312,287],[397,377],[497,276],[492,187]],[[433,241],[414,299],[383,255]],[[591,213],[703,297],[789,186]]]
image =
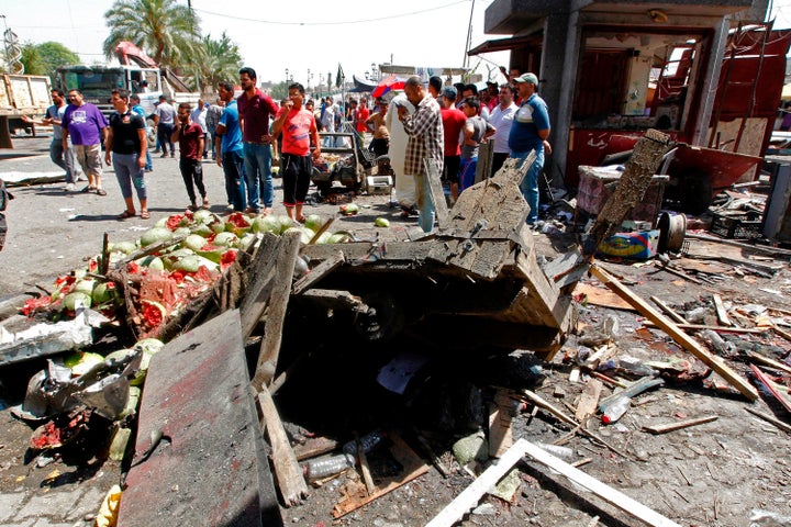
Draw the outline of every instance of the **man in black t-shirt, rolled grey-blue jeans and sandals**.
[[[145,186],[145,153],[148,141],[145,133],[145,121],[129,105],[129,91],[113,90],[110,102],[115,112],[110,115],[110,127],[104,141],[104,161],[112,162],[115,179],[121,187],[121,194],[126,203],[126,210],[119,220],[133,217],[135,213],[132,199],[132,186],[137,191],[141,202],[141,217],[148,220],[148,194]],[[112,153],[112,160],[110,159]],[[98,192],[98,191],[97,191]]]

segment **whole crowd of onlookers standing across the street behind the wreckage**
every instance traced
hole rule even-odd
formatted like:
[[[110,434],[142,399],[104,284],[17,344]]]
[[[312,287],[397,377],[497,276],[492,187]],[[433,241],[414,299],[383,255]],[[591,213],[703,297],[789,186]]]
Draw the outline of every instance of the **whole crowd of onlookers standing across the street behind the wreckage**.
[[[282,176],[282,204],[290,217],[304,222],[303,205],[310,187],[313,161],[322,147],[346,137],[328,135],[346,123],[355,132],[356,146],[369,148],[374,157],[388,157],[396,173],[397,200],[404,216],[416,215],[419,225],[434,228],[426,159],[447,184],[450,199],[475,183],[479,147],[493,142],[492,173],[508,157],[524,160],[536,153],[521,184],[530,204],[527,223],[538,211],[538,173],[544,154],[549,150],[549,116],[546,103],[537,94],[534,74],[505,74],[508,82],[498,85],[447,85],[432,77],[427,85],[419,76],[404,82],[403,90],[377,97],[349,99],[345,104],[332,96],[317,103],[307,98],[299,82],[288,87],[288,98],[277,104],[258,88],[253,68],[239,70],[235,96],[231,81],[221,82],[214,103],[199,100],[197,105],[182,102],[175,106],[166,96],[159,98],[153,115],[157,144],[163,158],[176,157],[189,209],[209,208],[203,182],[202,161],[211,159],[223,169],[229,210],[250,214],[270,214],[275,200],[272,164]],[[112,166],[124,199],[119,218],[137,215],[133,189],[140,204],[140,217],[148,218],[145,173],[153,169],[148,145],[147,116],[140,98],[126,90],[113,90],[114,112],[107,119],[93,104],[85,102],[79,90],[68,98],[52,90],[54,104],[36,124],[52,125],[52,160],[66,171],[66,190],[75,191],[81,178],[87,186],[80,192],[107,195],[102,186],[102,146],[104,164]],[[68,104],[66,100],[68,99]],[[391,110],[394,106],[394,111]],[[319,132],[327,135],[323,141]],[[81,173],[80,173],[81,172]]]

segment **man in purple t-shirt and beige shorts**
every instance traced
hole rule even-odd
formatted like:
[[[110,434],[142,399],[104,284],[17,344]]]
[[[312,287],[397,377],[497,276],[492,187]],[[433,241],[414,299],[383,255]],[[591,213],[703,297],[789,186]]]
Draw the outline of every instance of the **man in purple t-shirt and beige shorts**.
[[[69,147],[69,137],[77,161],[88,177],[88,187],[82,192],[107,195],[101,184],[101,143],[107,139],[108,121],[97,106],[85,102],[82,92],[69,90],[69,105],[64,113],[63,148]]]

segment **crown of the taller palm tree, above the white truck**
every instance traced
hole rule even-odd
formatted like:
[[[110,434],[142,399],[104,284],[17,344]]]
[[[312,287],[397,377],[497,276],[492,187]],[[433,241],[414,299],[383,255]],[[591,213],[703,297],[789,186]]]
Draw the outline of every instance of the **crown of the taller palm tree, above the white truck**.
[[[116,0],[104,16],[110,29],[103,44],[108,58],[119,42],[129,41],[160,67],[200,63],[200,20],[176,0]]]

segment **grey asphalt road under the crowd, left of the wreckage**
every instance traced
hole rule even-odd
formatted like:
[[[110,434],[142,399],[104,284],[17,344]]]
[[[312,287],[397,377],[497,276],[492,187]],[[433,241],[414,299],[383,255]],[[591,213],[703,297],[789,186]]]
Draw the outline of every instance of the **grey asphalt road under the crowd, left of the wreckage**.
[[[49,142],[48,136],[15,138],[13,150],[0,150],[0,178],[53,178],[63,173],[49,159]],[[211,211],[225,214],[222,168],[207,160],[203,171]],[[105,197],[79,192],[86,184],[82,182],[77,184],[75,192],[67,192],[62,181],[11,189],[15,199],[5,211],[9,233],[5,247],[0,251],[0,298],[32,291],[35,284],[47,288],[55,277],[85,267],[86,259],[101,251],[104,233],[108,233],[110,242],[134,240],[157,220],[181,213],[189,205],[178,158],[159,158],[154,154],[154,170],[146,175],[151,220],[137,216],[119,221],[118,216],[125,206],[112,167],[105,167],[102,181],[108,191]],[[274,181],[274,212],[285,214],[280,180],[275,178]],[[336,220],[331,231],[370,231],[374,218],[385,215],[393,225],[388,229],[389,234],[405,238],[403,227],[416,223],[398,217],[398,211],[387,206],[387,194],[361,197],[356,202],[363,206],[360,215]],[[307,214],[317,213],[327,217],[336,212],[337,206],[328,204],[305,209]]]

